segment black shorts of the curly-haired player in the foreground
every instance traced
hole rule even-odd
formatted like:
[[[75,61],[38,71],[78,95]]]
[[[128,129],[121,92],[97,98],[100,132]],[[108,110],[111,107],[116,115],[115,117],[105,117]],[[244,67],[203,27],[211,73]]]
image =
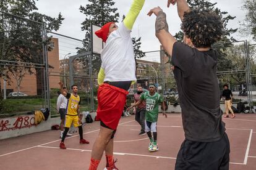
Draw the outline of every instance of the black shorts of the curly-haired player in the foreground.
[[[177,155],[175,170],[228,170],[229,152],[226,133],[216,142],[185,139]]]

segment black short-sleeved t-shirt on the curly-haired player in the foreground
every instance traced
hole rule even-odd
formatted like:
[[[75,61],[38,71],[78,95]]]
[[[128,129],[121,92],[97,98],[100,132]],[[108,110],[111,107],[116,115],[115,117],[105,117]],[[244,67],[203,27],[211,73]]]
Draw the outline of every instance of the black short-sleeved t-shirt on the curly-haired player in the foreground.
[[[197,142],[213,142],[225,132],[221,119],[220,89],[216,75],[215,51],[200,52],[175,42],[172,63],[181,102],[185,137]]]

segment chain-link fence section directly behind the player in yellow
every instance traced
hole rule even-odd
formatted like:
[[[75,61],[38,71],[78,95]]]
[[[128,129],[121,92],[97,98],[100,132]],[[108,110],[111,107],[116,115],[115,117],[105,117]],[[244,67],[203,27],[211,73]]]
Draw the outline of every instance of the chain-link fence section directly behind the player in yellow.
[[[51,92],[51,114],[58,116],[56,102],[59,95],[59,81],[72,92],[72,85],[77,85],[81,99],[80,111],[92,110],[92,89],[90,81],[90,56],[85,54],[83,41],[58,33],[50,32],[52,53],[48,53],[49,63],[49,89]],[[94,80],[95,81],[95,80]],[[95,84],[95,83],[94,83]],[[95,90],[95,89],[94,89]],[[96,92],[94,93],[96,95]],[[95,97],[93,97],[95,99]]]

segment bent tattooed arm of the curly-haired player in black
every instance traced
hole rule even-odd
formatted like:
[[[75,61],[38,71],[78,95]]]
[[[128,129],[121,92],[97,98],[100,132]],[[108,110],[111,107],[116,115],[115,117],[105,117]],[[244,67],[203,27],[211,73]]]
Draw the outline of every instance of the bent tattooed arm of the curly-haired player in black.
[[[148,15],[152,14],[156,15],[156,37],[159,39],[160,43],[164,47],[165,51],[168,52],[169,55],[173,53],[173,44],[177,40],[173,35],[169,33],[168,23],[166,22],[166,14],[160,7],[155,7],[148,12]]]

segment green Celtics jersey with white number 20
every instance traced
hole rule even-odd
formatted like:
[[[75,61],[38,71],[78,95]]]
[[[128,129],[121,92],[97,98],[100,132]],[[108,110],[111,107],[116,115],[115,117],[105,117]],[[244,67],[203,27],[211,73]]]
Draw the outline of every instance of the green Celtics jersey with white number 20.
[[[150,95],[149,92],[145,92],[140,96],[140,99],[146,101],[146,120],[150,122],[156,122],[158,119],[158,104],[163,102],[163,97],[157,92],[154,95]]]

